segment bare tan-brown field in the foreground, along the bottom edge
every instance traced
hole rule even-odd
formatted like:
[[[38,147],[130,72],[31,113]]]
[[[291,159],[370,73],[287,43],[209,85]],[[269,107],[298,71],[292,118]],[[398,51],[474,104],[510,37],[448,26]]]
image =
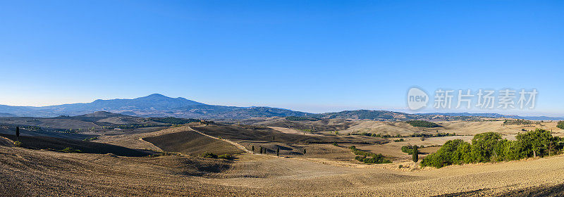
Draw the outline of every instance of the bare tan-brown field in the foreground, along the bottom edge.
[[[0,196],[563,195],[564,157],[415,171],[308,158],[122,158],[0,146]]]

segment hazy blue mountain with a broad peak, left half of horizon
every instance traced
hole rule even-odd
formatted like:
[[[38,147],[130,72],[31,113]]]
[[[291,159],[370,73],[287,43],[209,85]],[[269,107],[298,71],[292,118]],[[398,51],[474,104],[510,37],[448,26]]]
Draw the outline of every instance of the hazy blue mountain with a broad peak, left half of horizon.
[[[106,112],[98,112],[106,111]],[[97,113],[94,113],[97,112]],[[92,103],[73,103],[59,106],[27,107],[0,105],[0,113],[11,116],[56,117],[59,115],[107,115],[104,113],[120,113],[140,117],[186,117],[206,119],[245,119],[250,117],[305,116],[293,110],[269,107],[235,107],[212,106],[186,98],[171,98],[161,94],[151,94],[133,99],[98,99]],[[92,119],[92,118],[89,118]]]

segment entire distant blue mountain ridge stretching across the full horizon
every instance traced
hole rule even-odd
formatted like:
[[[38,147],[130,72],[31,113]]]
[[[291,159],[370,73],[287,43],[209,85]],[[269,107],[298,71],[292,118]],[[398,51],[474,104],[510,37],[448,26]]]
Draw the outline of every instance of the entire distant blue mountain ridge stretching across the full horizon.
[[[564,120],[562,117],[501,115],[498,113],[400,113],[388,110],[345,110],[334,113],[305,113],[271,107],[214,106],[186,98],[171,98],[151,94],[132,99],[97,99],[91,103],[73,103],[58,106],[29,107],[0,105],[0,117],[56,117],[59,115],[107,115],[99,111],[137,117],[184,117],[201,119],[240,120],[252,117],[323,117],[381,121],[405,120],[476,120],[479,117],[505,117],[527,120]],[[94,113],[99,112],[99,113]],[[93,117],[83,117],[92,119]]]

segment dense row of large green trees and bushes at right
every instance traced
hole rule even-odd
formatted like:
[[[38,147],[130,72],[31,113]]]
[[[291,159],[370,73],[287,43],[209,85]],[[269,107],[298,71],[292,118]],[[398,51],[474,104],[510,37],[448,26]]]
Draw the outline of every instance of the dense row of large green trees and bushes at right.
[[[422,166],[443,167],[462,163],[487,163],[520,160],[562,151],[563,139],[552,136],[550,131],[535,129],[517,134],[517,140],[501,139],[501,134],[486,132],[477,134],[472,144],[455,139],[447,141],[436,153],[427,155]]]

